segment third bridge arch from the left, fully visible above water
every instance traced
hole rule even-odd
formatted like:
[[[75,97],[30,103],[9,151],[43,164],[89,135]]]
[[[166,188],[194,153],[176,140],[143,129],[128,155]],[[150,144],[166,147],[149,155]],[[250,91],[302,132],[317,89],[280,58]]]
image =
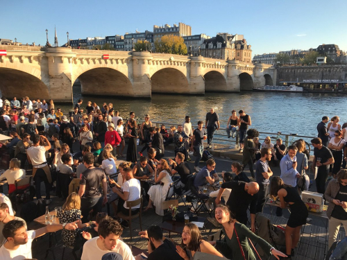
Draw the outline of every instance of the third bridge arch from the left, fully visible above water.
[[[160,69],[151,76],[152,93],[188,93],[189,82],[182,71]]]

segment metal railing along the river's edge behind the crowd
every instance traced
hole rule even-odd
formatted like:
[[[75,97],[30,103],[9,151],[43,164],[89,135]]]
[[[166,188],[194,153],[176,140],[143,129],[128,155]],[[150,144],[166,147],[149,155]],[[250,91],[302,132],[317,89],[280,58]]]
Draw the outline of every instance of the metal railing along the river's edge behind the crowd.
[[[168,129],[168,126],[171,125],[178,125],[178,123],[172,123],[172,122],[153,122],[153,124],[155,124],[155,126],[157,128],[160,128],[160,125],[165,125],[166,128]],[[193,128],[197,128],[197,125],[192,125]],[[223,132],[223,134],[222,134]],[[274,141],[276,141],[276,138],[282,138],[282,141],[285,143],[285,146],[289,146],[291,145],[294,141],[298,140],[298,139],[303,139],[304,141],[307,142],[307,144],[311,144],[311,139],[315,138],[315,137],[308,137],[305,135],[296,135],[296,134],[283,134],[282,132],[259,132],[260,136],[260,143],[262,144],[262,141],[264,141],[265,137],[271,137],[271,139],[275,139]],[[217,137],[215,137],[217,136]],[[283,140],[283,137],[284,140]],[[228,138],[228,136],[226,135],[226,129],[225,128],[220,128],[217,132],[214,132],[214,137],[213,137],[214,141],[221,141],[220,144],[226,143],[235,143],[235,148],[239,148],[239,135],[236,135],[235,139],[232,138]],[[273,142],[273,140],[271,140]],[[311,147],[312,148],[312,147]]]

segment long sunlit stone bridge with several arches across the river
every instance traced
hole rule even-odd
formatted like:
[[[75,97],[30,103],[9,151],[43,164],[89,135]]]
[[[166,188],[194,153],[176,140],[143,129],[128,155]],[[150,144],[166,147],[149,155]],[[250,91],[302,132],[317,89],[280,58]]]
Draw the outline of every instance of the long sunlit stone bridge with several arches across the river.
[[[0,90],[8,98],[71,103],[76,80],[84,95],[135,98],[151,98],[152,93],[239,92],[276,83],[276,70],[270,65],[237,60],[40,46],[0,49],[7,51],[0,56]]]

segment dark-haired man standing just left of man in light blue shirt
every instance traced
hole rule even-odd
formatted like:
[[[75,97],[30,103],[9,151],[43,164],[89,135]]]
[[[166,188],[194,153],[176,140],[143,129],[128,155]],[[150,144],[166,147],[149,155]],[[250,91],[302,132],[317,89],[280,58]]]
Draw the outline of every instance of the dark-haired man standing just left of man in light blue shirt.
[[[271,149],[262,148],[260,153],[262,157],[257,161],[257,164],[255,164],[255,179],[257,180],[257,184],[259,184],[257,212],[262,212],[262,209],[264,208],[267,197],[269,196],[269,179],[273,175],[273,172],[269,167],[269,161],[272,156]]]

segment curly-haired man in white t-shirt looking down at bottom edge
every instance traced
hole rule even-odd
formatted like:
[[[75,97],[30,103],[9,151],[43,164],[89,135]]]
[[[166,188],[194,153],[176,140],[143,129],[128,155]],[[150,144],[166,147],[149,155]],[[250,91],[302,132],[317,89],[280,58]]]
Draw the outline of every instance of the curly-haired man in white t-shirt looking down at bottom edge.
[[[135,260],[128,245],[119,239],[122,232],[123,229],[116,220],[110,217],[101,220],[98,227],[99,236],[85,242],[81,260],[101,259],[104,254],[110,252],[121,254],[123,260]]]

